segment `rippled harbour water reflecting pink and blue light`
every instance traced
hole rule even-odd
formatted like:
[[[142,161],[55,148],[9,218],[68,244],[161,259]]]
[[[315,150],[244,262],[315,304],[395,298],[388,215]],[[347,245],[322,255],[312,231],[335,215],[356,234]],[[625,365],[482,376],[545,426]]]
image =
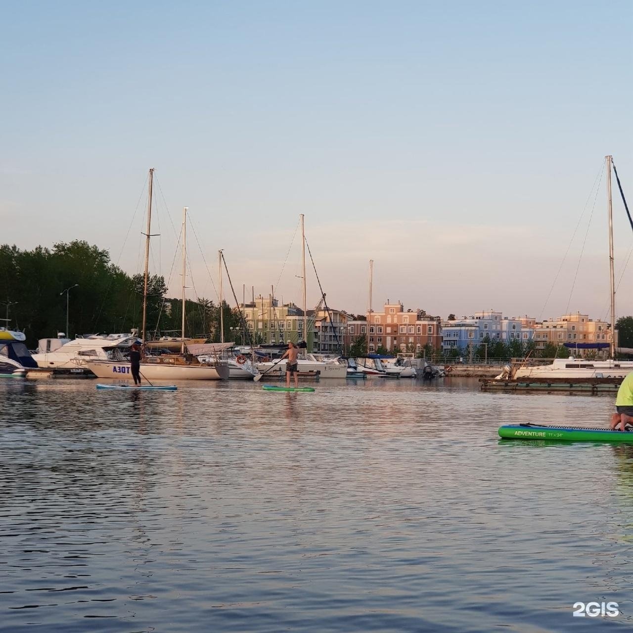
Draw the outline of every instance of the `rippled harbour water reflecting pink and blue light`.
[[[604,424],[613,396],[375,379],[0,397],[0,632],[633,623],[633,447],[496,436]]]

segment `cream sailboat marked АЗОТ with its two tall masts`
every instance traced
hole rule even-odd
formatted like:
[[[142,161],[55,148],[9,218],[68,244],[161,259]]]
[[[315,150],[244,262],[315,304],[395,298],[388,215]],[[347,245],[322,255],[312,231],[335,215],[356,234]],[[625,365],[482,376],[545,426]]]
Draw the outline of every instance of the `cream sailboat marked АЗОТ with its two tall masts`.
[[[147,233],[145,242],[145,274],[143,285],[143,317],[141,338],[146,341],[147,327],[147,281],[149,279],[149,238],[151,237],[151,211],[154,182],[154,169],[149,170],[149,194],[147,201]],[[185,339],[185,275],[187,272],[187,207],[182,214],[182,339],[180,354],[162,356],[144,356],[141,361],[141,376],[146,380],[224,380],[229,377],[226,363],[215,361],[201,362],[187,350]],[[85,361],[92,373],[98,378],[123,377],[130,379],[130,362],[125,360]]]

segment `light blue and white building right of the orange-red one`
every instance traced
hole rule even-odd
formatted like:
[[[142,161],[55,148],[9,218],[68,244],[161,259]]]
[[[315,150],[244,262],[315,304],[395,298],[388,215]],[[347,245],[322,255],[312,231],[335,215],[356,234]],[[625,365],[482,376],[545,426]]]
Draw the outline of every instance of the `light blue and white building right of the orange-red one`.
[[[476,312],[473,316],[442,322],[442,350],[478,346],[486,337],[491,341],[527,343],[534,337],[536,320],[529,316],[508,318],[494,310]]]

